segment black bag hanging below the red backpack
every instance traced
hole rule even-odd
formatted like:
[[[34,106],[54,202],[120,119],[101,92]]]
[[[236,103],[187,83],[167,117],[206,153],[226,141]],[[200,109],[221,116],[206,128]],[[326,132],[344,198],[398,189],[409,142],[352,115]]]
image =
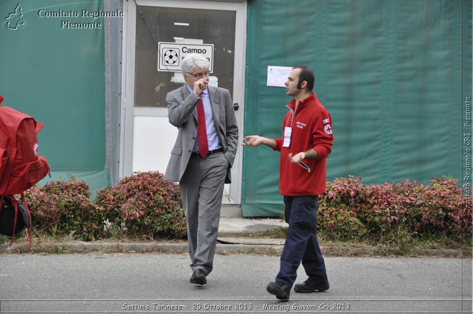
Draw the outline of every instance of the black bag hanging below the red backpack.
[[[0,198],[1,199],[1,198]],[[4,236],[18,236],[25,228],[30,228],[30,216],[25,205],[21,201],[17,201],[18,213],[17,223],[15,225],[15,204],[8,196],[3,197],[0,207],[0,234]],[[12,239],[13,240],[13,239]]]

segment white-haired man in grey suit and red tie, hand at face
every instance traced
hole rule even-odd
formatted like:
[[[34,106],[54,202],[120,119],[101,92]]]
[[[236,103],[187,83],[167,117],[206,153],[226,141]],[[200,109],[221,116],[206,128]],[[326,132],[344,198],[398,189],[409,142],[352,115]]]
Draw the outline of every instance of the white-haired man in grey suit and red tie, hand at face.
[[[179,132],[164,177],[180,183],[190,281],[204,285],[212,271],[223,186],[231,182],[238,127],[228,89],[209,86],[209,61],[191,53],[181,68],[187,84],[166,96],[169,122]]]

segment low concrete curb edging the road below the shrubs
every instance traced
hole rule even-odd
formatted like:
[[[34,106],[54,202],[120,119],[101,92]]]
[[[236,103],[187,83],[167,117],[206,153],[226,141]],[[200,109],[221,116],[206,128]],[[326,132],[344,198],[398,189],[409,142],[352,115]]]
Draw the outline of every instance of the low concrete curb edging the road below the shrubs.
[[[0,246],[0,253],[29,253],[29,244],[4,244]],[[217,243],[216,253],[268,253],[279,254],[282,252],[283,245],[271,244],[221,244]],[[170,253],[170,252],[187,252],[187,244],[185,243],[165,243],[165,242],[151,242],[151,243],[121,243],[121,242],[50,242],[45,244],[32,244],[31,252],[51,252],[58,253],[92,253],[99,251],[106,252],[122,252],[122,253]],[[327,245],[320,247],[324,256],[380,256],[381,254],[397,255],[396,249],[393,248],[379,248],[379,247],[355,247],[355,246],[337,246]],[[335,253],[336,252],[336,253]],[[418,250],[412,252],[419,256],[448,256],[461,257],[462,253],[459,250]]]

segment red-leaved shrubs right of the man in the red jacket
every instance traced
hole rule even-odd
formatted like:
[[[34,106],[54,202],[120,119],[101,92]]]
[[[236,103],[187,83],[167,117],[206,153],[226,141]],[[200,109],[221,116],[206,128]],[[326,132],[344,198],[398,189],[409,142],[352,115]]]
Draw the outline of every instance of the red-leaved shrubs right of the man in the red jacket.
[[[335,178],[319,198],[318,226],[342,238],[368,231],[384,236],[391,230],[471,235],[472,213],[462,211],[462,189],[449,177],[432,178],[428,185],[402,183],[365,185],[360,177]],[[350,230],[347,230],[350,229]]]

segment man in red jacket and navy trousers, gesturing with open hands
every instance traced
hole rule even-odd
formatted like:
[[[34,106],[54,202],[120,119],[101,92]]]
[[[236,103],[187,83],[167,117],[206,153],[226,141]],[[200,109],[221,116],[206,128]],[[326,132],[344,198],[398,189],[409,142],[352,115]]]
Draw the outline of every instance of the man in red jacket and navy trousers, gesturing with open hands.
[[[263,144],[281,152],[279,189],[289,227],[276,281],[266,287],[280,300],[289,300],[301,261],[308,279],[295,285],[294,291],[309,293],[329,288],[316,228],[317,195],[325,192],[325,158],[332,151],[332,118],[312,92],[314,82],[314,72],[309,67],[294,67],[285,83],[287,94],[294,99],[287,105],[283,137],[250,135],[242,143],[254,147]]]

